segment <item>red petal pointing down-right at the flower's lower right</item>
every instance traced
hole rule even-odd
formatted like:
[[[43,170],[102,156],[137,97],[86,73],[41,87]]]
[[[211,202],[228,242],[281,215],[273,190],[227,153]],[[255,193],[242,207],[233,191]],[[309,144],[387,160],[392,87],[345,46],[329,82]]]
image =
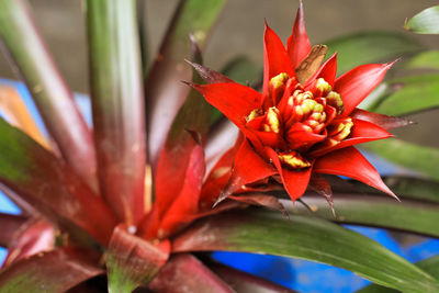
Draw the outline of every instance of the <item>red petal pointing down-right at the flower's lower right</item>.
[[[314,172],[346,176],[397,199],[375,168],[354,147],[338,149],[318,158],[314,164]]]

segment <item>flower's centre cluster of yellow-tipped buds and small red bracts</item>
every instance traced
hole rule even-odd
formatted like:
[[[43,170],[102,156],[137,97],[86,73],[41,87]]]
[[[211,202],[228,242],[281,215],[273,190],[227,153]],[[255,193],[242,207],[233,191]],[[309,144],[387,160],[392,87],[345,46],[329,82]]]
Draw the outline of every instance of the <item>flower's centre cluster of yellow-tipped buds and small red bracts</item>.
[[[353,126],[349,117],[337,119],[344,102],[323,78],[305,89],[282,72],[270,80],[267,99],[271,105],[252,110],[246,126],[259,132],[262,144],[272,147],[282,165],[292,169],[309,167],[311,148],[339,144]]]

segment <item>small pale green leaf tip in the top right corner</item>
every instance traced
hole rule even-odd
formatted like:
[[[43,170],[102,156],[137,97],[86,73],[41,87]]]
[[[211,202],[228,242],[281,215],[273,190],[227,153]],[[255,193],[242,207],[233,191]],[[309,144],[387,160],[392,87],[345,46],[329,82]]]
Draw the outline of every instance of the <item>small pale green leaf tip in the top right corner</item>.
[[[439,5],[420,11],[404,24],[404,29],[417,34],[439,34]]]

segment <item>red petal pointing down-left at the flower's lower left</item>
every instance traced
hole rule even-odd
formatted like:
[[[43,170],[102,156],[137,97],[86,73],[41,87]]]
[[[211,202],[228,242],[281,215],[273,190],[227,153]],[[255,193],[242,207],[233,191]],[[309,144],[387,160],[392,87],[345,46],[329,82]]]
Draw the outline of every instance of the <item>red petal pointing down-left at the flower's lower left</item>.
[[[235,155],[232,176],[215,204],[225,200],[243,185],[275,173],[275,169],[255,151],[247,139],[244,139],[239,150]]]

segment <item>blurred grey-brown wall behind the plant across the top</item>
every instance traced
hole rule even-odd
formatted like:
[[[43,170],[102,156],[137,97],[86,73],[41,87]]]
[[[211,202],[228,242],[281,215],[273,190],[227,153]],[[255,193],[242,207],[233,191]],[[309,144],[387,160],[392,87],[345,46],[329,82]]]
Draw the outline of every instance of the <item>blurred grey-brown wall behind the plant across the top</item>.
[[[145,0],[148,25],[149,58],[153,58],[178,0]],[[405,32],[404,21],[436,0],[304,0],[306,30],[312,44],[361,31],[397,31],[419,40],[429,48],[439,48],[439,37]],[[37,25],[53,53],[67,83],[76,92],[87,93],[88,68],[83,4],[80,0],[30,0]],[[205,64],[219,69],[237,55],[245,55],[262,65],[263,20],[283,41],[291,33],[299,0],[229,0],[214,27],[204,52]],[[390,61],[390,60],[382,60]],[[392,71],[390,72],[392,75]],[[0,77],[14,79],[3,56]],[[438,111],[416,114],[418,123],[396,135],[412,142],[439,146],[431,137],[432,121]]]

